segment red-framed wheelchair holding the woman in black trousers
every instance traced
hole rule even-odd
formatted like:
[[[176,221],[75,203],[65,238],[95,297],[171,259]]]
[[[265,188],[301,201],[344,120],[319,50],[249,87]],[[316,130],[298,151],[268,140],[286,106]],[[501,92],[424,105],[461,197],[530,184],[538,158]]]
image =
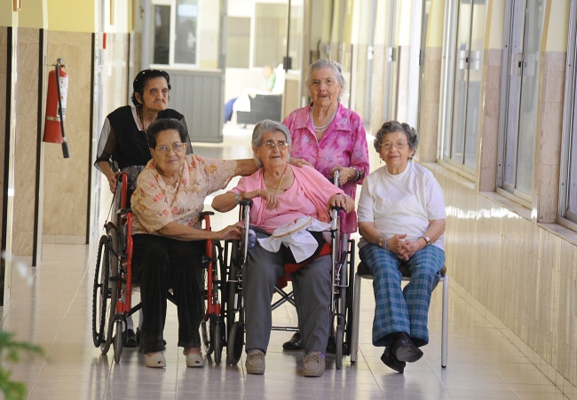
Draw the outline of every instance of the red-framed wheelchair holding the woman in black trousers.
[[[115,197],[111,206],[112,216],[105,224],[105,233],[100,237],[94,284],[92,286],[92,341],[102,354],[114,347],[115,363],[120,363],[126,343],[127,318],[142,308],[142,304],[131,305],[133,289],[138,286],[132,277],[132,212],[129,204],[128,176],[119,177]],[[209,216],[203,212],[204,229],[210,230]],[[221,328],[222,315],[220,296],[222,282],[219,278],[218,260],[222,261],[220,242],[206,241],[206,253],[201,266],[204,278],[202,318],[202,341],[207,356],[214,353],[216,364],[220,364],[225,333]],[[221,263],[222,264],[222,263]],[[172,293],[168,299],[176,303]]]

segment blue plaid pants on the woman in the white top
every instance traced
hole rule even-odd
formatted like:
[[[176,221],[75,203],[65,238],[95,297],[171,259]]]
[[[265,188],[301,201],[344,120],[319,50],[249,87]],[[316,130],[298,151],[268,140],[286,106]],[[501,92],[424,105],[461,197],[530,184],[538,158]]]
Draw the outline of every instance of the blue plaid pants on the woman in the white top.
[[[398,332],[407,333],[417,346],[427,344],[431,293],[439,284],[445,252],[439,247],[427,246],[404,262],[391,251],[369,244],[362,247],[359,254],[374,277],[373,345],[389,346],[391,339],[387,335]],[[407,263],[411,272],[411,280],[404,289],[400,286],[401,263]]]

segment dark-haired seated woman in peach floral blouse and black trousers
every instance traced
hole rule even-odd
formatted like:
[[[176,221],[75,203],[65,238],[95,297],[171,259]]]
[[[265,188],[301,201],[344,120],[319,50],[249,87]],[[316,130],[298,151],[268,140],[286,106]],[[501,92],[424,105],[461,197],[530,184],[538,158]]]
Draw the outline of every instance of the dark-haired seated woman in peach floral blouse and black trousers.
[[[162,368],[167,293],[178,307],[178,346],[186,365],[202,367],[199,326],[202,319],[201,257],[206,239],[238,239],[238,224],[222,231],[201,229],[205,197],[233,176],[257,170],[253,160],[214,160],[186,154],[188,133],[182,122],[158,120],[147,130],[153,159],[140,173],[132,195],[132,269],[140,281],[144,320],[140,351],[147,367]]]

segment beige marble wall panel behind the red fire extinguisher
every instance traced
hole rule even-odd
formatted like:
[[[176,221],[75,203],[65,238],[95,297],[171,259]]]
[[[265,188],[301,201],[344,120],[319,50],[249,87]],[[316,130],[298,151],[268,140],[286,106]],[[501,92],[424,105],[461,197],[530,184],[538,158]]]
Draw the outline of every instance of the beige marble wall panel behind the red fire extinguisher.
[[[70,158],[62,157],[60,145],[46,144],[44,161],[43,234],[85,241],[89,201],[88,169],[91,142],[91,46],[90,33],[50,31],[47,37],[49,63],[64,59],[69,75],[65,132]],[[46,68],[45,74],[50,69]]]

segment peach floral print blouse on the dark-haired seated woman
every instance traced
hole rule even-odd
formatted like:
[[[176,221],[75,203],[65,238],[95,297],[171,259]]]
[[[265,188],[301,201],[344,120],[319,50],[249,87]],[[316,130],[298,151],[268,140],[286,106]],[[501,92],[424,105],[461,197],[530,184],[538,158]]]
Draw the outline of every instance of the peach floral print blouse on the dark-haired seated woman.
[[[170,222],[200,229],[204,199],[224,189],[235,169],[234,160],[187,154],[178,183],[172,186],[164,183],[154,159],[148,161],[131,198],[132,233],[158,234],[156,231]]]

